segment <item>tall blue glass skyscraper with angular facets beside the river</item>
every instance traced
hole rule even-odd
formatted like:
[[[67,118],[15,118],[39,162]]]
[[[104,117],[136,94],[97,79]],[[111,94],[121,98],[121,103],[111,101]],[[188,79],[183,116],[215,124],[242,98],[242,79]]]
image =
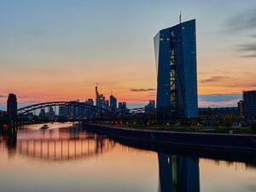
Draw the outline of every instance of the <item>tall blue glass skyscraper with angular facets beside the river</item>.
[[[160,30],[154,37],[157,108],[180,118],[198,116],[195,20]]]

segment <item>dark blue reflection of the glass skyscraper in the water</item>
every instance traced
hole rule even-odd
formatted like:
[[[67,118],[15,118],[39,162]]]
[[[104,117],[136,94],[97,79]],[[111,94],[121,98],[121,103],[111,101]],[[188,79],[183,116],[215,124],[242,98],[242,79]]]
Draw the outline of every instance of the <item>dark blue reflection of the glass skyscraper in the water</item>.
[[[158,153],[160,192],[199,192],[199,159]]]

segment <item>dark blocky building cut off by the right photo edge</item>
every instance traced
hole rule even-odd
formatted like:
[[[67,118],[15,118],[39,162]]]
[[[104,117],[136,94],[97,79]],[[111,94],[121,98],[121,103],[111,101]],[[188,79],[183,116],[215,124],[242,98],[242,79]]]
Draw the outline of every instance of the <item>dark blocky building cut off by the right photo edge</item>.
[[[246,118],[256,118],[256,90],[242,92],[243,114]]]

